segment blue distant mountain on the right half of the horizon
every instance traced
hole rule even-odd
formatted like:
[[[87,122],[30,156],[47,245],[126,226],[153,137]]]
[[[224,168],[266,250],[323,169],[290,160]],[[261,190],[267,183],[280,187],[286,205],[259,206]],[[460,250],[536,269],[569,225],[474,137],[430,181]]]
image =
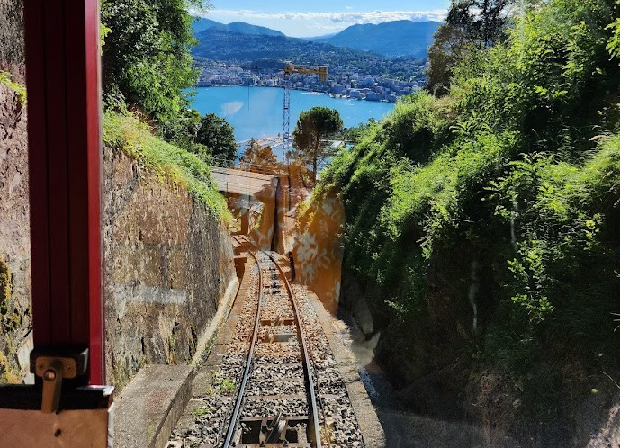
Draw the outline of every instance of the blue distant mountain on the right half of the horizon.
[[[391,57],[426,58],[428,47],[433,43],[433,34],[440,24],[401,20],[377,25],[353,25],[335,36],[315,38],[313,41]]]

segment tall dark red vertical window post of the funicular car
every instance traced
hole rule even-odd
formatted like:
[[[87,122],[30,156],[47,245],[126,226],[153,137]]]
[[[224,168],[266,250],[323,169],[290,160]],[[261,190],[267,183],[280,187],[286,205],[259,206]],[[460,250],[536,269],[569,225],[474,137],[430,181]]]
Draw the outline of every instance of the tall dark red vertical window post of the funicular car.
[[[97,0],[24,3],[35,345],[88,345],[103,382]]]

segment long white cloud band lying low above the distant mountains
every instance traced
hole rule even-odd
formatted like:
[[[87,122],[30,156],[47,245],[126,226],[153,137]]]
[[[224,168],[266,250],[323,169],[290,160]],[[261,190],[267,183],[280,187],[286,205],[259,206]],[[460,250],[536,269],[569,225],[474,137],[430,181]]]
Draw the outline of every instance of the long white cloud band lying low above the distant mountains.
[[[283,31],[289,36],[312,36],[321,32],[344,30],[357,23],[382,23],[397,20],[414,22],[445,20],[447,10],[428,11],[371,11],[354,12],[349,10],[339,13],[265,13],[254,10],[213,9],[205,16],[218,22],[248,22]]]

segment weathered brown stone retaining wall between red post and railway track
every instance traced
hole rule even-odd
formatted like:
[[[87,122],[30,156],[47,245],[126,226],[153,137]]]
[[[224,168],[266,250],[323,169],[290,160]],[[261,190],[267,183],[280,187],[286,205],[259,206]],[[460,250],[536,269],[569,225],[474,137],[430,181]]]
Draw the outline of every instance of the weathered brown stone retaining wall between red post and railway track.
[[[106,371],[187,363],[235,276],[229,231],[184,188],[104,151]]]

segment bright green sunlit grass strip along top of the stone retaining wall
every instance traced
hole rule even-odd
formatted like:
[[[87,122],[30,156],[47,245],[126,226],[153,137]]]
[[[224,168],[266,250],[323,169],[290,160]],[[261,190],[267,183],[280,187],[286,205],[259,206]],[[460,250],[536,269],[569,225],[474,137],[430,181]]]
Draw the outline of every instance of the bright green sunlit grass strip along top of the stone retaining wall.
[[[226,203],[214,184],[209,166],[195,154],[154,136],[148,125],[130,113],[103,114],[103,142],[134,157],[161,179],[183,186],[208,209],[227,220]]]

